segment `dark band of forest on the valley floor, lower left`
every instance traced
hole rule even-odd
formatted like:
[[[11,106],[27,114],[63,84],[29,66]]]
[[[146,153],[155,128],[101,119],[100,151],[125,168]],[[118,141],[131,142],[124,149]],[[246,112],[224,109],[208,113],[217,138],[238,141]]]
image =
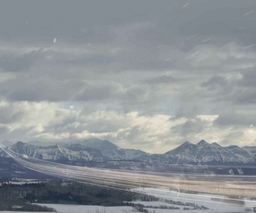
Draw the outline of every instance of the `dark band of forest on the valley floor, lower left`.
[[[140,196],[125,189],[110,189],[67,180],[50,180],[21,185],[2,183],[0,200],[12,199],[24,202],[65,203],[79,205],[131,205],[136,199],[154,200],[152,196]]]

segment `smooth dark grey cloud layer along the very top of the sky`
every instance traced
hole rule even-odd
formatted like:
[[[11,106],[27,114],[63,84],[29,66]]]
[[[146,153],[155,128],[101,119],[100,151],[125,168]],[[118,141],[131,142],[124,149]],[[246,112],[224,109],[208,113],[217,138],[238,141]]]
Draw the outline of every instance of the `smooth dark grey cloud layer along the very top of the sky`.
[[[213,42],[255,43],[254,1],[5,1],[0,9],[2,38],[74,43],[111,43],[110,27],[126,23],[155,23],[132,41],[146,45],[191,47],[208,37]],[[10,12],[11,11],[11,12]],[[238,30],[239,28],[242,30]],[[194,34],[190,40],[185,40]]]

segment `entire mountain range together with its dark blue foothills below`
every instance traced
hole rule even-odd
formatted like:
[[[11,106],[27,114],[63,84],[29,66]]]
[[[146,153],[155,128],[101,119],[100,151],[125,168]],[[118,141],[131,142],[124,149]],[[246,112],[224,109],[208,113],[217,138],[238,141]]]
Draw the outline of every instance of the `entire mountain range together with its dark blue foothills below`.
[[[204,140],[197,144],[186,141],[178,148],[164,154],[149,154],[145,151],[124,149],[110,141],[97,138],[45,146],[39,142],[28,144],[18,141],[14,145],[8,146],[8,150],[20,157],[32,157],[62,164],[125,170],[161,172],[183,172],[186,170],[199,173],[244,174],[245,170],[238,168],[234,171],[233,168],[256,164],[256,146],[229,145],[223,147],[216,142],[208,143]],[[13,167],[10,157],[1,148],[0,157],[0,171],[3,171],[4,169],[1,167],[7,167],[6,165]],[[5,161],[9,163],[5,164]],[[17,164],[15,165],[17,166]],[[223,167],[226,169],[223,170]],[[14,169],[14,172],[17,173],[17,170],[21,169]],[[251,173],[251,170],[248,171]],[[256,170],[253,173],[256,173]]]

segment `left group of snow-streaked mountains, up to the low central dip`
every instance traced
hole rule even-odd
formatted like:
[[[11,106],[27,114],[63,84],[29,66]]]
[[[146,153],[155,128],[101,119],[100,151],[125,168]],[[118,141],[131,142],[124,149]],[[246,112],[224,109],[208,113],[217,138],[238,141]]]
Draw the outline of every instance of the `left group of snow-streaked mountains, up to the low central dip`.
[[[88,139],[70,143],[40,146],[18,141],[8,149],[21,157],[27,156],[47,161],[120,161],[145,155],[139,150],[122,149],[107,140]],[[1,157],[8,157],[4,151]]]

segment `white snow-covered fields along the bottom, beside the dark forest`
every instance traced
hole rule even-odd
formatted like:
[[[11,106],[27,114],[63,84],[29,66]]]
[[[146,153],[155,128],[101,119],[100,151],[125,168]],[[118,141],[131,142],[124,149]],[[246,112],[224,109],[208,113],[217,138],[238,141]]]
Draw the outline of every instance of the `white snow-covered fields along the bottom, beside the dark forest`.
[[[187,194],[170,189],[154,189],[154,188],[135,188],[134,192],[148,194],[159,198],[159,201],[135,201],[137,209],[131,206],[112,206],[104,207],[97,205],[62,205],[62,204],[37,204],[55,208],[56,211],[62,213],[132,213],[138,211],[139,204],[144,206],[144,210],[149,213],[203,213],[203,212],[253,212],[256,202],[245,200],[243,204],[230,201],[224,196],[203,195],[203,194]],[[224,201],[225,200],[225,201]],[[246,210],[247,209],[247,210]],[[1,213],[15,213],[18,211],[1,211]],[[26,213],[26,212],[24,212]],[[31,212],[30,212],[31,213]]]

